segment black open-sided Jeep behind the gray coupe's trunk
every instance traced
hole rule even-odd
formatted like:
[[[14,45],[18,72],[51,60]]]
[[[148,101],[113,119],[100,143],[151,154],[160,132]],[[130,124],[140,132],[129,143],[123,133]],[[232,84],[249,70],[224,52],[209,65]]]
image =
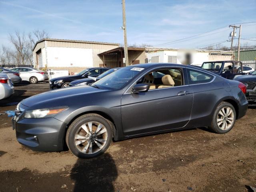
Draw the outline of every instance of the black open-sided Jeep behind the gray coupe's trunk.
[[[235,66],[242,66],[240,61],[210,61],[203,62],[202,69],[213,72],[226,79],[234,79],[236,76],[245,75],[241,70],[242,68],[236,68]]]

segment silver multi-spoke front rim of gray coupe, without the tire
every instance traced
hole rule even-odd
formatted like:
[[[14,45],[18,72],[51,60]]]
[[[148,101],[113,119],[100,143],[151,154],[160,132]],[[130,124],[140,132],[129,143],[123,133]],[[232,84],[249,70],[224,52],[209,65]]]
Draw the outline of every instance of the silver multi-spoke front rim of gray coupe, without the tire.
[[[106,144],[108,132],[106,127],[99,122],[83,124],[76,132],[74,144],[84,154],[94,154]]]

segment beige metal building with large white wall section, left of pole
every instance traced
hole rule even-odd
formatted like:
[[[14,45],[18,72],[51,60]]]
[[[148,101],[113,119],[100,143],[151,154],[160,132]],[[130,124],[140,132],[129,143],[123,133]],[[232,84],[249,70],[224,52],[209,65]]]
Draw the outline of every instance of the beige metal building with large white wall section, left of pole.
[[[98,54],[118,47],[118,43],[42,39],[33,48],[34,66],[75,73],[84,68],[104,66]]]

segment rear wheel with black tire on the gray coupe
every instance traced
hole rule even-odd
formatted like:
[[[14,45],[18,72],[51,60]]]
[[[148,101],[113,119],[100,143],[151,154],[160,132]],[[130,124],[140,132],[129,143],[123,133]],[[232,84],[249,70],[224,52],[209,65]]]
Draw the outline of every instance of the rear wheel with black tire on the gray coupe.
[[[214,111],[212,124],[209,127],[213,132],[224,134],[229,132],[236,122],[236,110],[228,102],[221,102]]]

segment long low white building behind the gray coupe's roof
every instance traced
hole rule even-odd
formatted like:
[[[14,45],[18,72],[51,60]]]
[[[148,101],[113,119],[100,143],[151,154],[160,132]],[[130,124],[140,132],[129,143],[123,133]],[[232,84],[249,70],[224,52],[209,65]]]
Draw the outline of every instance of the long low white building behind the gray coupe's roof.
[[[165,49],[165,48],[146,48],[146,57],[148,63],[177,63],[181,64],[178,60],[178,49]],[[220,51],[220,50],[196,50],[194,62],[192,65],[201,66],[203,62],[207,61],[221,61],[221,60],[234,60],[234,52]]]

